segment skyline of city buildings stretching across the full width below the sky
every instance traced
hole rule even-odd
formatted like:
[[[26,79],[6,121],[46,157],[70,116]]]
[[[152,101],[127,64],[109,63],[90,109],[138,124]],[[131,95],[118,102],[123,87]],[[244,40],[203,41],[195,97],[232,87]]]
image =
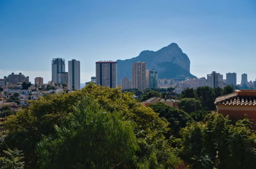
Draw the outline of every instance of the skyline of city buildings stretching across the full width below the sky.
[[[207,74],[207,79],[205,77],[201,78],[186,78],[183,81],[177,81],[175,79],[158,79],[158,73],[155,70],[147,70],[146,62],[134,62],[132,65],[131,80],[128,77],[124,77],[121,79],[120,87],[122,89],[136,88],[145,90],[147,88],[159,87],[159,88],[167,88],[167,87],[177,87],[177,88],[193,88],[196,89],[202,86],[209,86],[211,88],[221,87],[224,88],[227,85],[237,86],[241,89],[253,89],[256,87],[256,79],[255,81],[247,80],[247,74],[242,74],[241,84],[236,84],[237,73],[226,73],[226,79],[223,79],[223,75],[220,73],[216,73],[213,71],[211,74]],[[100,71],[101,70],[101,71]],[[92,77],[90,82],[94,82],[96,84],[102,86],[108,86],[110,88],[116,88],[117,82],[117,63],[115,61],[97,61],[96,62],[96,77],[102,77],[98,80],[96,77]],[[100,75],[101,72],[101,75]],[[111,73],[112,72],[112,73]],[[9,77],[9,78],[8,78]],[[6,82],[9,80],[10,85],[17,85],[21,82],[29,82],[28,76],[25,77],[22,73],[19,74],[10,74],[8,77],[4,77],[4,79],[0,79],[0,87],[6,86]],[[111,78],[110,78],[111,77]],[[18,80],[24,78],[26,80]],[[7,80],[8,79],[8,80]],[[13,79],[14,81],[12,81]],[[52,59],[52,83],[63,84],[66,83],[67,89],[69,90],[79,90],[81,88],[80,83],[80,61],[72,59],[68,61],[68,72],[65,71],[65,59],[63,58],[53,58]],[[54,81],[57,82],[54,82]],[[97,82],[98,81],[98,82]],[[34,84],[43,85],[43,78],[36,77]],[[87,82],[86,84],[89,84]],[[83,87],[83,86],[82,86]]]

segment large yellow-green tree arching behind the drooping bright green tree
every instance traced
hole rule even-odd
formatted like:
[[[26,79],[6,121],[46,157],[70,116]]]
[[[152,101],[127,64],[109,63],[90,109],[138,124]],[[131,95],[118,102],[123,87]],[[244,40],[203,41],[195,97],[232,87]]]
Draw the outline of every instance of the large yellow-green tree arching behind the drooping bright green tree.
[[[31,101],[29,107],[7,118],[4,122],[7,130],[5,142],[24,151],[26,167],[37,167],[36,163],[40,159],[35,149],[42,141],[42,136],[49,138],[54,135],[55,126],[62,129],[63,121],[80,110],[80,100],[93,100],[101,111],[110,114],[118,112],[125,123],[130,123],[140,146],[134,157],[137,167],[174,168],[180,163],[165,138],[169,131],[167,120],[138,103],[132,98],[132,93],[90,84],[70,94],[51,94]]]

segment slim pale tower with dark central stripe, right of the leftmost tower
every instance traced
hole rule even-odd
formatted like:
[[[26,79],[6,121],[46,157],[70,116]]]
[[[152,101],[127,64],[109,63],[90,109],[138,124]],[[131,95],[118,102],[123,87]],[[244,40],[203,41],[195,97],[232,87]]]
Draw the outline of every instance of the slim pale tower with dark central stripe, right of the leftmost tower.
[[[68,89],[80,89],[80,61],[75,59],[68,61]]]

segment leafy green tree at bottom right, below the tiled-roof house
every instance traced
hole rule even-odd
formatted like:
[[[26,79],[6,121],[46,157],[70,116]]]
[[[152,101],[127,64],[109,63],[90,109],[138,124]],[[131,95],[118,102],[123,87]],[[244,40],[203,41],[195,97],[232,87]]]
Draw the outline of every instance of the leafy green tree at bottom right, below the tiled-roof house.
[[[222,114],[209,114],[203,122],[181,130],[182,156],[191,168],[253,168],[255,132],[245,118],[233,123]]]

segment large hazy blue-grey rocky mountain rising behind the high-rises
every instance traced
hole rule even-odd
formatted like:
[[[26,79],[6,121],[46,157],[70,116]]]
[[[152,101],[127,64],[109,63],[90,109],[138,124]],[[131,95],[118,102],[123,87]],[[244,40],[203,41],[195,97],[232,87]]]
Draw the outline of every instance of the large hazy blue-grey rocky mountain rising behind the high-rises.
[[[142,51],[139,56],[117,61],[117,83],[123,77],[131,79],[131,67],[133,62],[146,62],[147,69],[154,69],[159,73],[159,78],[174,78],[183,80],[185,77],[195,78],[190,74],[190,60],[182,52],[181,48],[171,43],[158,51]]]

